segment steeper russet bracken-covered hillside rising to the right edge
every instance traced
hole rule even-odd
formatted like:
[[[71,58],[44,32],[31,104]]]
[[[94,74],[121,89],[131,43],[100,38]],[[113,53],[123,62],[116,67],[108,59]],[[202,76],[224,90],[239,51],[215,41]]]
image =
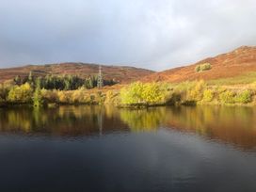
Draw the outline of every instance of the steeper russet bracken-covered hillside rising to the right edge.
[[[196,66],[203,63],[210,63],[212,69],[204,72],[195,72]],[[199,79],[212,80],[233,77],[246,72],[256,72],[256,46],[242,46],[228,54],[209,57],[193,65],[164,72],[155,72],[142,78],[142,81],[168,81],[176,83]]]

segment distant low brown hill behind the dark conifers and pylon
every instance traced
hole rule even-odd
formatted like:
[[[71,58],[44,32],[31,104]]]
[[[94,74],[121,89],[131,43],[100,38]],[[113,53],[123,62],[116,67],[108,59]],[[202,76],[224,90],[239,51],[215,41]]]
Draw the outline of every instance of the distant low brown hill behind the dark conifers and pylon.
[[[104,79],[115,79],[120,83],[130,83],[137,79],[152,74],[152,71],[134,67],[123,66],[104,66],[102,65]],[[47,74],[64,75],[77,74],[80,77],[97,74],[98,64],[87,63],[60,63],[47,65],[27,65],[24,67],[0,69],[0,82],[13,79],[16,75],[24,77],[29,72],[36,76],[45,76]]]

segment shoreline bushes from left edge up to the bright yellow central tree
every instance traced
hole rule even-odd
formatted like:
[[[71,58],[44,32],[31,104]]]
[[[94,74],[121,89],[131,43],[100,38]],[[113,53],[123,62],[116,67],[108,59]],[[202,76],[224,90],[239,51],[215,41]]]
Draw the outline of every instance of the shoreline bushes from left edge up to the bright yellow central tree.
[[[0,86],[0,106],[30,104],[35,106],[59,104],[104,104],[115,102],[119,86],[105,88],[78,88],[75,90],[59,90],[33,88],[29,84]],[[117,97],[116,97],[117,98]]]

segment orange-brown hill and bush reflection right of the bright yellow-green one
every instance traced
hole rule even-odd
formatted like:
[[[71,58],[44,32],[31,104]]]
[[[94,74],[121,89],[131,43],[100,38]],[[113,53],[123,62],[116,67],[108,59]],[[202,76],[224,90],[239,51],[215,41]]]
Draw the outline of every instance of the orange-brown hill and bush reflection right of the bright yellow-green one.
[[[256,109],[197,106],[168,108],[167,126],[251,149],[256,146]]]

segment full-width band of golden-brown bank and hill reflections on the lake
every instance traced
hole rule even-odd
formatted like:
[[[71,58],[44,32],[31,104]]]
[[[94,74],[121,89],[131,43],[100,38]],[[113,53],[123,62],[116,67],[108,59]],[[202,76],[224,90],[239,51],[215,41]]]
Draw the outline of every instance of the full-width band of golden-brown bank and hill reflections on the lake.
[[[110,106],[61,106],[0,110],[0,131],[10,133],[88,136],[116,131],[149,132],[159,127],[193,132],[245,149],[256,146],[256,108],[251,107],[155,107],[130,110]]]

